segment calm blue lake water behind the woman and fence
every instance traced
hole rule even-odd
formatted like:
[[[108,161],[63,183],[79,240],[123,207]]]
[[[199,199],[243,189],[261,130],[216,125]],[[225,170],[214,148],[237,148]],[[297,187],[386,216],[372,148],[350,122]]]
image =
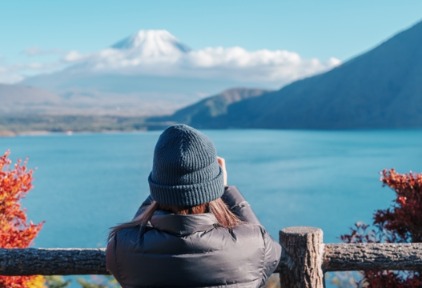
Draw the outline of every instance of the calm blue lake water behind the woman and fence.
[[[204,131],[226,158],[236,185],[274,238],[288,226],[315,226],[339,242],[357,221],[391,204],[379,172],[422,171],[422,130]],[[35,247],[104,247],[109,227],[132,218],[148,195],[160,132],[49,134],[0,138],[0,153],[29,158],[29,218],[45,221]]]

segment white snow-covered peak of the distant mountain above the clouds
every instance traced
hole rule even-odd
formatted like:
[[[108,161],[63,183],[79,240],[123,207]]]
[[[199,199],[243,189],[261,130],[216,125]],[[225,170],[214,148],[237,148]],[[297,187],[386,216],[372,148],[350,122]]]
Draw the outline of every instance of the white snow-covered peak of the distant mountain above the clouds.
[[[140,56],[160,57],[184,54],[190,48],[167,30],[140,30],[112,46],[113,49],[136,51]]]

